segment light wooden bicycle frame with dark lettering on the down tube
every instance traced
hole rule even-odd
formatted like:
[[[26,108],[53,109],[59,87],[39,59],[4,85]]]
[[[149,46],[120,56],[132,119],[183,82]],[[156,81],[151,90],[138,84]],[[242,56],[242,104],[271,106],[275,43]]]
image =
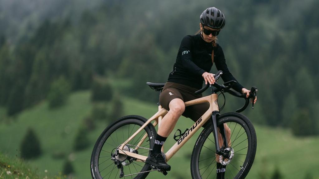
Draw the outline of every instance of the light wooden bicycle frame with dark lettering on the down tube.
[[[208,102],[210,104],[209,109],[203,114],[202,117],[200,117],[194,125],[192,125],[188,132],[185,132],[185,134],[181,137],[180,140],[178,140],[174,146],[172,146],[167,152],[166,152],[166,161],[168,161],[169,159],[171,159],[173,157],[174,154],[177,153],[177,151],[183,147],[183,145],[207,122],[207,120],[210,119],[211,117],[211,113],[213,111],[219,111],[219,107],[218,107],[218,103],[217,103],[217,98],[218,95],[217,94],[211,94],[209,96],[206,97],[201,97],[198,99],[194,99],[191,101],[187,101],[185,102],[185,106],[191,106],[191,105],[195,105],[195,104],[201,104],[201,103],[206,103]],[[142,125],[133,135],[130,136],[130,138],[128,140],[126,140],[119,148],[121,150],[119,150],[120,154],[126,154],[130,157],[134,157],[137,159],[137,161],[145,161],[147,156],[144,155],[139,155],[139,154],[135,154],[129,151],[124,151],[123,147],[130,142],[130,140],[132,140],[139,132],[141,132],[148,124],[150,124],[153,120],[155,120],[154,122],[154,126],[156,126],[157,124],[160,125],[160,120],[167,114],[167,110],[162,108],[161,106],[159,106],[159,111],[157,113],[155,113],[150,119],[147,120],[147,122],[145,122],[144,125]],[[144,135],[144,137],[140,140],[140,142],[138,143],[138,147],[143,143],[143,141],[146,139],[147,134]],[[135,148],[137,149],[137,147]]]

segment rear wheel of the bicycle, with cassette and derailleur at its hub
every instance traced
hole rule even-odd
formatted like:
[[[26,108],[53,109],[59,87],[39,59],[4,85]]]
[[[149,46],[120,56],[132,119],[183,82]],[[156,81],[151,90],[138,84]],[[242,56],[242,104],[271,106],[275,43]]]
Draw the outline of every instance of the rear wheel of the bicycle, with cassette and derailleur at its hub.
[[[125,116],[116,120],[102,132],[95,143],[91,156],[91,174],[93,179],[120,178],[121,169],[118,168],[115,161],[118,161],[123,167],[124,175],[130,175],[125,178],[143,179],[148,175],[149,172],[147,171],[151,170],[149,164],[137,161],[135,158],[124,154],[119,154],[118,149],[146,121],[147,119],[141,116]],[[147,137],[144,142],[139,147],[135,147],[145,134],[147,134]],[[123,150],[147,156],[150,152],[149,149],[153,148],[155,135],[154,126],[149,124],[125,145]],[[116,155],[112,157],[111,154]]]

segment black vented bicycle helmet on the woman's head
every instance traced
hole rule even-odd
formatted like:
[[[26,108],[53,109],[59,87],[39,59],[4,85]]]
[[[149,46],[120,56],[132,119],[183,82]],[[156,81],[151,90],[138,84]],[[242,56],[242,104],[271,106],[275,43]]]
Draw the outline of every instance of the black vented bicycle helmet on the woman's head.
[[[210,7],[200,15],[200,22],[203,27],[208,26],[213,29],[222,29],[225,26],[225,15],[219,9]]]

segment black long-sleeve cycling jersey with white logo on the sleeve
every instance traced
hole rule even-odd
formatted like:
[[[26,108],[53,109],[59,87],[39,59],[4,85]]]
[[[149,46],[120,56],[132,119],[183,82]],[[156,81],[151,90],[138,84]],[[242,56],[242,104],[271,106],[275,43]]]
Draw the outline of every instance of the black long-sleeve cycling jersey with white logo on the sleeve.
[[[219,45],[213,47],[211,43],[205,42],[200,34],[187,35],[182,39],[173,71],[169,74],[167,82],[201,89],[204,81],[202,74],[209,72],[213,65],[211,60],[213,50],[216,68],[223,71],[221,75],[223,81],[235,80],[237,83],[233,85],[233,89],[241,92],[243,86],[229,72],[223,49]]]

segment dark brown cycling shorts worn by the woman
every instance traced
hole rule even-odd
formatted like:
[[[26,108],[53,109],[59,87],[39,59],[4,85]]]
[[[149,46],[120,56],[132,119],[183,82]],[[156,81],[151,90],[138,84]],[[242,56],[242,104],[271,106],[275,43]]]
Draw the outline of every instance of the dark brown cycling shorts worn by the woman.
[[[202,97],[202,94],[195,94],[198,89],[189,87],[187,85],[166,82],[159,96],[159,103],[163,108],[169,111],[169,103],[175,99],[182,99],[184,102]],[[192,119],[196,122],[209,108],[209,103],[195,104],[185,107],[185,111],[182,116]],[[209,122],[211,123],[211,122]],[[205,124],[206,127],[208,124]]]

